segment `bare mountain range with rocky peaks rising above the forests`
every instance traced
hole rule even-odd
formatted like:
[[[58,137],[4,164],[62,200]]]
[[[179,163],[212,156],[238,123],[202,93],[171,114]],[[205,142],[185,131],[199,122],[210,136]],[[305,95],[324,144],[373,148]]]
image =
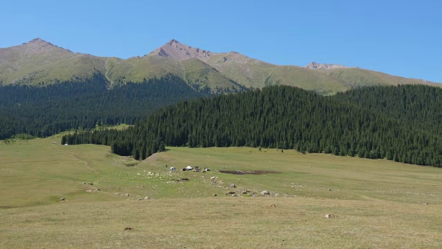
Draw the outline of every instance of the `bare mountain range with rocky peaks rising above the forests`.
[[[325,95],[359,86],[430,84],[358,67],[312,62],[280,66],[236,52],[212,53],[172,39],[144,56],[97,57],[55,46],[43,39],[0,48],[0,84],[47,85],[103,75],[110,86],[174,75],[191,86],[251,89],[284,84]]]

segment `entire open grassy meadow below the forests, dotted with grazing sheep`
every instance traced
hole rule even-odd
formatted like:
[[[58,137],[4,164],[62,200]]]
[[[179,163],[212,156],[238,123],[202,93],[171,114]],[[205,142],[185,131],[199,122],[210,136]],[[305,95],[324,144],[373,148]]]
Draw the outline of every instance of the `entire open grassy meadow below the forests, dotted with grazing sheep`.
[[[442,246],[440,168],[248,147],[139,162],[59,141],[0,141],[0,248]]]

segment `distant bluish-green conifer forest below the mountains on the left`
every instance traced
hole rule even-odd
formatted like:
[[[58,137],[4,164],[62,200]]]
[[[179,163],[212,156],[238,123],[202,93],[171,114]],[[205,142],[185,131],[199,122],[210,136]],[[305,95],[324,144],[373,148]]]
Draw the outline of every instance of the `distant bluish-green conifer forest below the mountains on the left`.
[[[211,95],[209,88],[195,91],[173,75],[118,84],[111,89],[101,74],[48,86],[1,86],[0,139],[133,124],[164,105],[207,95]]]

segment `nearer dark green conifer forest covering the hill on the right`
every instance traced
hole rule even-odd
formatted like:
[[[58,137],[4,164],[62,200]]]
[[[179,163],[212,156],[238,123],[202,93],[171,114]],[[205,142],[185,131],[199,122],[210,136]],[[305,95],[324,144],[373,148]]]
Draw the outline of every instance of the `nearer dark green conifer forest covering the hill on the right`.
[[[269,86],[179,102],[124,131],[73,133],[62,143],[110,145],[144,159],[165,146],[248,146],[387,158],[442,167],[442,89],[372,86],[323,96]]]

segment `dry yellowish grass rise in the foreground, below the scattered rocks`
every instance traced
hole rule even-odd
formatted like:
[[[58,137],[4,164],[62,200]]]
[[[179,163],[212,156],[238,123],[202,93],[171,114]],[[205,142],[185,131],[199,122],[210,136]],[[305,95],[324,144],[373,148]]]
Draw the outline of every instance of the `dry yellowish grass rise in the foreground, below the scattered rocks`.
[[[389,201],[210,197],[65,202],[1,210],[1,216],[1,248],[442,246],[440,206]],[[128,227],[133,230],[124,230]]]

